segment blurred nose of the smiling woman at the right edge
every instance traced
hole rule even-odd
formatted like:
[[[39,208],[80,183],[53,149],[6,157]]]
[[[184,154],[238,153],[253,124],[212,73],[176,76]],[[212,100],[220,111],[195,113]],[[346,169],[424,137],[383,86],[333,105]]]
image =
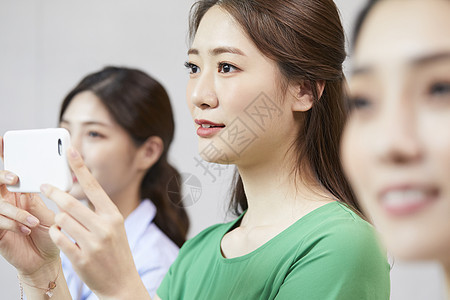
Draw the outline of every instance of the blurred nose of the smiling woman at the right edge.
[[[411,103],[384,113],[378,124],[375,151],[381,162],[408,164],[420,160],[423,145],[419,134],[419,118]]]

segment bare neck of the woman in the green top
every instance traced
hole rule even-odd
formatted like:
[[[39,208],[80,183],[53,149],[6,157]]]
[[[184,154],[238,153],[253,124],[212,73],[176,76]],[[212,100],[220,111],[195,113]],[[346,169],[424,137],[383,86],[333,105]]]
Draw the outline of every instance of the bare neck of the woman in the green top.
[[[295,159],[291,158],[287,159],[286,155],[279,151],[264,163],[238,166],[248,202],[248,210],[242,224],[260,226],[280,222],[292,223],[332,201],[319,184],[302,180],[306,178],[304,170],[300,173],[300,178],[296,178],[292,172]]]

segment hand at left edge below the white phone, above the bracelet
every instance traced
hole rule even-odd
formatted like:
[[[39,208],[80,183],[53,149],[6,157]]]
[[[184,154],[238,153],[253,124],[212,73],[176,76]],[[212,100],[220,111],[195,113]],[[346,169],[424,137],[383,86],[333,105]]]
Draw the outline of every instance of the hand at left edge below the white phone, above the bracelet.
[[[1,137],[0,156],[3,159]],[[0,171],[0,254],[21,276],[32,276],[44,265],[59,263],[59,249],[48,234],[54,213],[38,195],[9,192],[6,184],[18,180],[8,171]]]

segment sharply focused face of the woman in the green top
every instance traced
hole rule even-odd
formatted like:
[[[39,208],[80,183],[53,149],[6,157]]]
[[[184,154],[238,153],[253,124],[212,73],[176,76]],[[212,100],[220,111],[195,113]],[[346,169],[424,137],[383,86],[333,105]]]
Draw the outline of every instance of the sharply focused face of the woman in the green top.
[[[205,160],[258,163],[292,142],[298,125],[278,67],[228,13],[208,10],[188,54],[187,102]]]

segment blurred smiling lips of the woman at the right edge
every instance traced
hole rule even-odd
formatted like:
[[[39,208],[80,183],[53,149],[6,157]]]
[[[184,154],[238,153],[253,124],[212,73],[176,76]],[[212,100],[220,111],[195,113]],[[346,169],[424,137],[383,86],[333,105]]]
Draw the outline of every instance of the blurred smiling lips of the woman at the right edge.
[[[383,209],[393,216],[418,213],[438,199],[436,188],[425,186],[398,186],[385,189],[380,194]]]

